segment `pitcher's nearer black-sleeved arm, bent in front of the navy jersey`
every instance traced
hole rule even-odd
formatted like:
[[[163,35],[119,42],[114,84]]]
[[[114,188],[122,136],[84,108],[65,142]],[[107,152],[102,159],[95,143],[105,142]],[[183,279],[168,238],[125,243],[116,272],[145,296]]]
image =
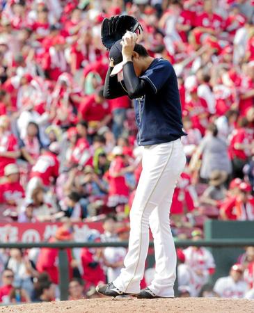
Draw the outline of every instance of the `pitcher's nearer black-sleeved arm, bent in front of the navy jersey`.
[[[123,79],[128,95],[131,99],[140,98],[148,93],[148,86],[145,80],[136,76],[132,61],[127,61],[122,67]]]

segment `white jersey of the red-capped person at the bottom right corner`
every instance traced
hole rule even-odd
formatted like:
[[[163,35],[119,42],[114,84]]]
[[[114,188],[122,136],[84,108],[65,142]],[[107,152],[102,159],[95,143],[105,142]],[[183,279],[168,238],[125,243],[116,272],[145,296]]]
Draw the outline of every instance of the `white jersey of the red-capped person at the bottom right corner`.
[[[235,282],[231,276],[219,278],[214,285],[214,291],[223,298],[244,298],[247,290],[244,280]]]

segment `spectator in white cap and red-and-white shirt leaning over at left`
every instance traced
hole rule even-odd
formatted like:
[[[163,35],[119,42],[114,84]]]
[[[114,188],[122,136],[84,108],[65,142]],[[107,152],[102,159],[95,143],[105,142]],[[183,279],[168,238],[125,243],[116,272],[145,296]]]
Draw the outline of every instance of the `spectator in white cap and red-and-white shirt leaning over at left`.
[[[58,177],[59,149],[59,144],[55,142],[49,145],[49,150],[42,152],[31,170],[31,179],[26,188],[26,198],[31,198],[33,190],[38,186],[49,188],[51,182]]]

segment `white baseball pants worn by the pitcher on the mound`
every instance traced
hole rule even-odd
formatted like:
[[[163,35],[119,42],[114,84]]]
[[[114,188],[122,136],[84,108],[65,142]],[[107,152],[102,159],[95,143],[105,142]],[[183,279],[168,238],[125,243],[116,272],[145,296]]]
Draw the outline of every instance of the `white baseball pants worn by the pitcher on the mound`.
[[[113,284],[137,294],[148,255],[149,226],[154,239],[155,275],[150,286],[157,296],[173,297],[176,253],[169,212],[177,179],[186,163],[180,139],[144,147],[141,173],[130,211],[129,251]]]

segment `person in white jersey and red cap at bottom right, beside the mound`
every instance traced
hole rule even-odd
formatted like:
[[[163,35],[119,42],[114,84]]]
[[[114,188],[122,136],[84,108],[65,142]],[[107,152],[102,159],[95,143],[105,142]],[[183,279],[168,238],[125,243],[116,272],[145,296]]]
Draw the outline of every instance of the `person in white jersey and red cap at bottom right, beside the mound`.
[[[244,298],[248,290],[243,279],[244,268],[235,264],[230,269],[230,275],[219,278],[214,285],[214,292],[223,298]]]

